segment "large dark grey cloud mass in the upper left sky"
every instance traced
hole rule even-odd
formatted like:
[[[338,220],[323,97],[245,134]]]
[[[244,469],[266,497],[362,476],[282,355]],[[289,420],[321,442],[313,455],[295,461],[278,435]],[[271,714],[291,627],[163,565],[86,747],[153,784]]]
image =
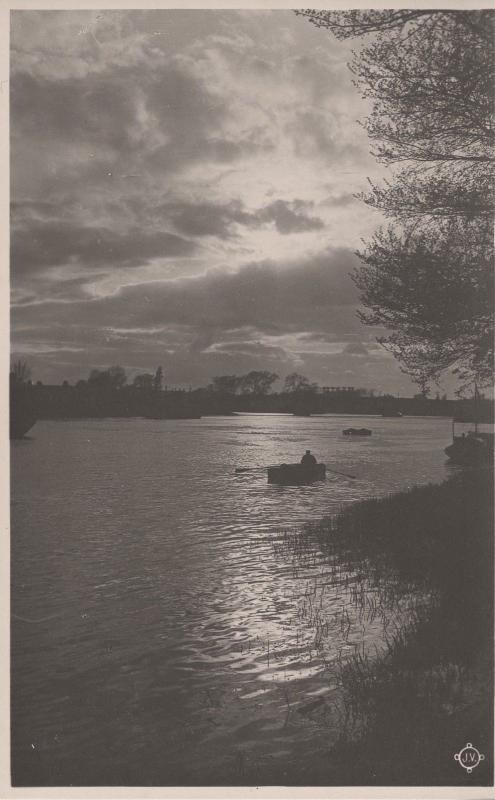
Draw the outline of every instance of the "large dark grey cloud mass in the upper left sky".
[[[195,162],[230,163],[273,147],[259,126],[235,137],[226,133],[227,98],[194,74],[187,59],[168,57],[149,43],[127,64],[109,59],[80,76],[44,75],[19,61],[15,69],[14,51],[14,164],[22,166],[26,142],[49,149],[53,168],[37,164],[49,190],[68,188],[75,179],[81,190],[85,183],[105,182],[107,170],[117,168],[174,173]],[[75,150],[78,157],[71,161]]]

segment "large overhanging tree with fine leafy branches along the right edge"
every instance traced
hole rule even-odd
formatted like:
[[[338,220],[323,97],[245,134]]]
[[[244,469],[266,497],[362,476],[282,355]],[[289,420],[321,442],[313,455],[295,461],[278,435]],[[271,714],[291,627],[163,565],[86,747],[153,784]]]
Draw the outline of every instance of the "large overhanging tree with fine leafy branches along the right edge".
[[[302,12],[339,39],[368,34],[350,68],[364,126],[393,178],[361,198],[390,219],[358,254],[362,320],[420,385],[493,376],[493,12]]]

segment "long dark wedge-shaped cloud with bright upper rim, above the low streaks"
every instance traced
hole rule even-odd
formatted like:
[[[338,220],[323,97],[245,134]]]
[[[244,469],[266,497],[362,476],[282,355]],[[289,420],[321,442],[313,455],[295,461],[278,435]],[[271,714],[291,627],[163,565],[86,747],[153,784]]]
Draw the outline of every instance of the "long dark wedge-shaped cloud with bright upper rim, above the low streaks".
[[[181,324],[205,330],[243,325],[273,332],[339,329],[354,316],[356,290],[349,278],[356,257],[337,249],[297,263],[248,264],[238,272],[210,271],[123,287],[109,297],[18,309],[20,320],[119,327]]]

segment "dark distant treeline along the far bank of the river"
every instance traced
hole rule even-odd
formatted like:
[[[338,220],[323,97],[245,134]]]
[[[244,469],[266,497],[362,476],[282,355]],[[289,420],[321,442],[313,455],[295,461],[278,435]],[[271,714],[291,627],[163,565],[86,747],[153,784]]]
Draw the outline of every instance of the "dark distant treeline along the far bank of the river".
[[[128,382],[125,370],[114,366],[92,370],[86,380],[71,385],[44,385],[30,380],[25,364],[11,372],[12,407],[16,399],[29,398],[38,419],[77,417],[183,418],[234,412],[308,414],[385,414],[452,416],[470,421],[475,416],[472,399],[449,400],[445,395],[417,394],[394,397],[353,386],[318,386],[304,375],[287,375],[280,392],[272,391],[276,373],[251,371],[246,375],[220,375],[198,389],[164,385],[161,367],[154,373],[136,375]],[[493,421],[493,401],[481,398],[478,420]]]

